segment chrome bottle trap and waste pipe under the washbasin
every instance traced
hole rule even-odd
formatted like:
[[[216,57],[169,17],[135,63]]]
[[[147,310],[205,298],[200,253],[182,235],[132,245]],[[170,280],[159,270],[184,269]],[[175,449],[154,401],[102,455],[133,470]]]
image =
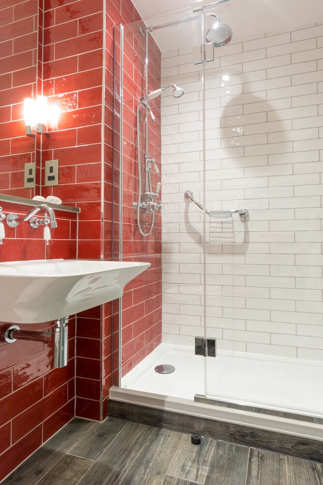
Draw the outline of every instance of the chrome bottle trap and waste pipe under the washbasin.
[[[68,317],[60,318],[55,322],[52,331],[37,332],[33,330],[20,330],[18,325],[4,327],[0,341],[4,343],[14,343],[16,340],[29,340],[43,342],[52,346],[52,363],[55,369],[67,365],[68,348]]]

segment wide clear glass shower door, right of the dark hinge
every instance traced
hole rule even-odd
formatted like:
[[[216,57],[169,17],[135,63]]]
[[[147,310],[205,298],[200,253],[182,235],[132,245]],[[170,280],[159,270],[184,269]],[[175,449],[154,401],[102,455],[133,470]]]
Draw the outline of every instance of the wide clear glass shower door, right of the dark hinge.
[[[205,17],[206,32],[211,20]],[[291,47],[294,32],[284,35]],[[216,357],[206,358],[206,397],[319,422],[322,187],[307,137],[323,132],[301,129],[312,127],[317,106],[294,95],[294,83],[300,91],[306,77],[287,76],[295,65],[278,59],[275,42],[265,33],[233,38],[215,49],[214,65],[203,63],[205,334],[217,342]]]

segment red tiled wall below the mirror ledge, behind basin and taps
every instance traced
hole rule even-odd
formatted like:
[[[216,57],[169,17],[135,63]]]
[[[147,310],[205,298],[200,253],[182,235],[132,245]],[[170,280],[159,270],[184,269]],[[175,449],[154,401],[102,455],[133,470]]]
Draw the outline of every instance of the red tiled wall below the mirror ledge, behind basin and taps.
[[[3,212],[25,214],[28,205],[0,200]],[[58,227],[45,245],[42,228],[5,225],[0,261],[76,258],[77,215],[56,210]],[[24,325],[45,330],[53,322]],[[0,322],[0,332],[8,323]],[[68,324],[68,364],[53,369],[51,348],[40,342],[0,343],[0,480],[74,416],[75,317]]]

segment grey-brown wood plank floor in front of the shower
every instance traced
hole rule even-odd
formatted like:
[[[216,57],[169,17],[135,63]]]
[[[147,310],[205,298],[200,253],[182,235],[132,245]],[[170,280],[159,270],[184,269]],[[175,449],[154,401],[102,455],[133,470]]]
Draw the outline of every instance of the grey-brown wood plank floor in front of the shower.
[[[144,424],[75,418],[2,485],[323,485],[323,465]]]

